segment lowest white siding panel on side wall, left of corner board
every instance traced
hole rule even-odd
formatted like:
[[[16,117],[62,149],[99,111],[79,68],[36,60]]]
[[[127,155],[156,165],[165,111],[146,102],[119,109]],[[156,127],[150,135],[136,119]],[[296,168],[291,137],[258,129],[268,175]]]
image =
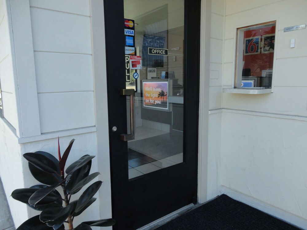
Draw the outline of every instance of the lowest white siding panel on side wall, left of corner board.
[[[3,115],[11,125],[17,127],[16,100],[14,94],[2,92]]]

